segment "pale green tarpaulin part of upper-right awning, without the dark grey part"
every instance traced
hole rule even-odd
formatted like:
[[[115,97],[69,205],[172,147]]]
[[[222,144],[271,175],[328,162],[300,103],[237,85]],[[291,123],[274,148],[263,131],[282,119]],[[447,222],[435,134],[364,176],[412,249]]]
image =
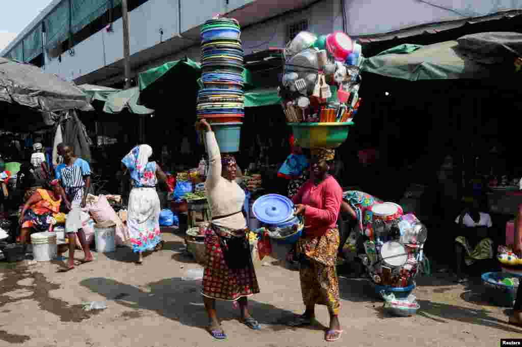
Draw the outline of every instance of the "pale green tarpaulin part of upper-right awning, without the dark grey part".
[[[482,79],[495,75],[492,65],[473,59],[457,41],[420,46],[402,44],[364,59],[361,70],[410,81]]]

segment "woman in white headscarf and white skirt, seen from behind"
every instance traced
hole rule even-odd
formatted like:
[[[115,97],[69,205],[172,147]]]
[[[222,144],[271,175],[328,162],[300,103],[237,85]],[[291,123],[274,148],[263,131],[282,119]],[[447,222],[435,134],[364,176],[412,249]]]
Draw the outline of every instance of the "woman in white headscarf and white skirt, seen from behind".
[[[123,159],[124,170],[132,179],[133,188],[129,195],[127,227],[133,251],[138,253],[137,264],[143,262],[143,252],[161,248],[163,241],[160,233],[160,200],[156,192],[158,180],[167,182],[167,176],[156,164],[149,162],[152,148],[139,145]]]

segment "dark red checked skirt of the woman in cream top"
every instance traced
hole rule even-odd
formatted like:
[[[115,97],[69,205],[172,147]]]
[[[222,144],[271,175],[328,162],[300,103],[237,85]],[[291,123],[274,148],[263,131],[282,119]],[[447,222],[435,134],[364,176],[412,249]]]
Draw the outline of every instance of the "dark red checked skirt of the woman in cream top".
[[[259,293],[256,272],[252,261],[243,269],[230,269],[219,243],[220,236],[245,237],[245,230],[228,230],[209,226],[205,232],[206,265],[203,272],[201,294],[211,299],[235,301],[242,296]]]

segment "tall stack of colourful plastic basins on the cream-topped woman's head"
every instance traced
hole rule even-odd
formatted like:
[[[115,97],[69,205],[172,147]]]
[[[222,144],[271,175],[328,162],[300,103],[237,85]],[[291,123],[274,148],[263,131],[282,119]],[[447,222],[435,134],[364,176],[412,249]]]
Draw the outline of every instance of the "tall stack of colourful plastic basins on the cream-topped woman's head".
[[[240,35],[235,19],[210,19],[201,28],[201,81],[205,88],[198,93],[197,117],[212,123],[222,153],[239,151],[245,115]]]

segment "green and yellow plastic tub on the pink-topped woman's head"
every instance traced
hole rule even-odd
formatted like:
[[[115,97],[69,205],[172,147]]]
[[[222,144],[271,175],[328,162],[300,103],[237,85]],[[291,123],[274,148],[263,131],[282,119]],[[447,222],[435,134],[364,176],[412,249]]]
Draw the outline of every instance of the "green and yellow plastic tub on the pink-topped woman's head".
[[[289,123],[294,139],[303,148],[337,148],[348,138],[353,122]]]

